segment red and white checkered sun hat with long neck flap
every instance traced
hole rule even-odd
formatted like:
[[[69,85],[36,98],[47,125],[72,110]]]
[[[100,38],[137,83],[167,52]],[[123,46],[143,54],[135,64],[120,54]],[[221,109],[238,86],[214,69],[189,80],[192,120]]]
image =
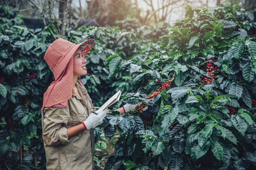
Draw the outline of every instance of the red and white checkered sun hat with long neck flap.
[[[82,57],[85,57],[94,43],[94,39],[74,44],[59,38],[48,47],[44,59],[52,69],[55,81],[49,85],[44,93],[41,110],[49,107],[67,107],[67,101],[72,97],[73,91],[73,54],[80,48]]]

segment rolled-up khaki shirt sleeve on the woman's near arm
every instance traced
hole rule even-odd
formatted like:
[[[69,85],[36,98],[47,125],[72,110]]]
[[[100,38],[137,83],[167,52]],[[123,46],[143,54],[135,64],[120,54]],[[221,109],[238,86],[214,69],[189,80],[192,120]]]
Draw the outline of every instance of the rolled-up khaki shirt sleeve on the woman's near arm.
[[[43,140],[49,146],[68,144],[67,122],[70,119],[70,111],[66,108],[44,108],[42,116]]]

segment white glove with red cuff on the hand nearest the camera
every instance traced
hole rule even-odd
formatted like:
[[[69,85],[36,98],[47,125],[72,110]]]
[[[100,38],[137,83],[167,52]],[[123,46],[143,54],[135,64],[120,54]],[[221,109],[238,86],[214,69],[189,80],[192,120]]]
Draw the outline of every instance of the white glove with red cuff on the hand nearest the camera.
[[[86,130],[89,130],[90,128],[97,127],[102,124],[103,119],[108,113],[108,108],[106,108],[104,111],[96,111],[96,113],[91,113],[87,119],[83,122],[84,128]]]

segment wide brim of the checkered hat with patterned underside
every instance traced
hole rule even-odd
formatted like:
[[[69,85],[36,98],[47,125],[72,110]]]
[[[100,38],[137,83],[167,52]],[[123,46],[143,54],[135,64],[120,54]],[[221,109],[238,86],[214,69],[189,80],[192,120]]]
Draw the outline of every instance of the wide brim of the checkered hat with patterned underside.
[[[65,57],[55,67],[55,69],[53,71],[55,80],[59,78],[62,71],[66,68],[67,63],[69,62],[70,58],[73,57],[73,54],[76,52],[76,50],[78,48],[81,49],[82,57],[85,57],[87,55],[87,53],[90,51],[90,49],[93,47],[94,43],[95,43],[94,39],[89,39],[89,40],[86,40],[79,44],[75,44],[72,48],[70,48],[70,51],[67,52]]]

